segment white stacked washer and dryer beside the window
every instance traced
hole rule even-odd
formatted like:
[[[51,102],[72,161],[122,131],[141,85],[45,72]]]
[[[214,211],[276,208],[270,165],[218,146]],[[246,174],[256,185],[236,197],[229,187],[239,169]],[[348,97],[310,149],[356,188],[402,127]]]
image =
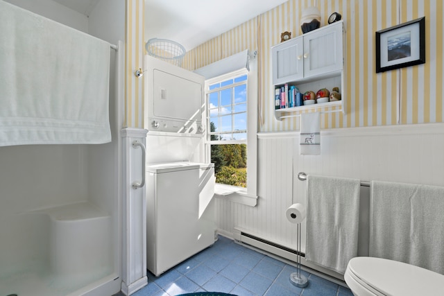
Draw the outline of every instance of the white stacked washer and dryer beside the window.
[[[214,164],[205,163],[204,78],[145,56],[146,265],[158,276],[214,244]]]

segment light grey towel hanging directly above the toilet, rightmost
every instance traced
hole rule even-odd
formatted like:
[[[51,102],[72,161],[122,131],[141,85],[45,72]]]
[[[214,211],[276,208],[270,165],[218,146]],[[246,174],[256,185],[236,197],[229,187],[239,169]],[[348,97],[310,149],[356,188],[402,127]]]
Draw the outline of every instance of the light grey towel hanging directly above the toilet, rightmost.
[[[444,187],[371,182],[370,256],[444,275]]]

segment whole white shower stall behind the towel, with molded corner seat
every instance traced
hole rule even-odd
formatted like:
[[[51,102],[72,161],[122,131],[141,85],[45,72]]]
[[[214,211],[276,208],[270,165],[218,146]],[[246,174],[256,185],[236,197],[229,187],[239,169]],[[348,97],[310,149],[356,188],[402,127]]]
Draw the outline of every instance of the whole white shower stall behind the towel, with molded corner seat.
[[[52,0],[6,2],[112,44],[125,40],[125,1],[96,1],[87,16]],[[124,49],[118,45],[121,53],[110,49],[111,142],[0,147],[0,295],[121,290],[124,106],[117,73]]]

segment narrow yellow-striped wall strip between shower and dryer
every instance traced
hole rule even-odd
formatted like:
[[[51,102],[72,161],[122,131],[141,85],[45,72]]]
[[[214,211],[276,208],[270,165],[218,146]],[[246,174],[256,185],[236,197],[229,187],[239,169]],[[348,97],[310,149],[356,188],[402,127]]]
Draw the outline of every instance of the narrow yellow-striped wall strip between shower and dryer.
[[[143,67],[144,0],[126,0],[124,127],[144,128],[144,83],[134,73]]]

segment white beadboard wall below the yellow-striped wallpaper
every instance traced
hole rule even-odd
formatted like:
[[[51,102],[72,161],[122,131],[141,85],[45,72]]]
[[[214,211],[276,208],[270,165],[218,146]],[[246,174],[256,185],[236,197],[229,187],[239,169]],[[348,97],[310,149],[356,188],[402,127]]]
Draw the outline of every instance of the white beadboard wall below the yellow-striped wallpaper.
[[[297,174],[354,177],[444,186],[444,123],[321,130],[321,155],[300,155],[298,132],[259,133],[256,207],[216,198],[219,232],[234,227],[296,247],[296,227],[285,218],[293,202],[306,204]],[[305,223],[302,223],[302,251]]]

